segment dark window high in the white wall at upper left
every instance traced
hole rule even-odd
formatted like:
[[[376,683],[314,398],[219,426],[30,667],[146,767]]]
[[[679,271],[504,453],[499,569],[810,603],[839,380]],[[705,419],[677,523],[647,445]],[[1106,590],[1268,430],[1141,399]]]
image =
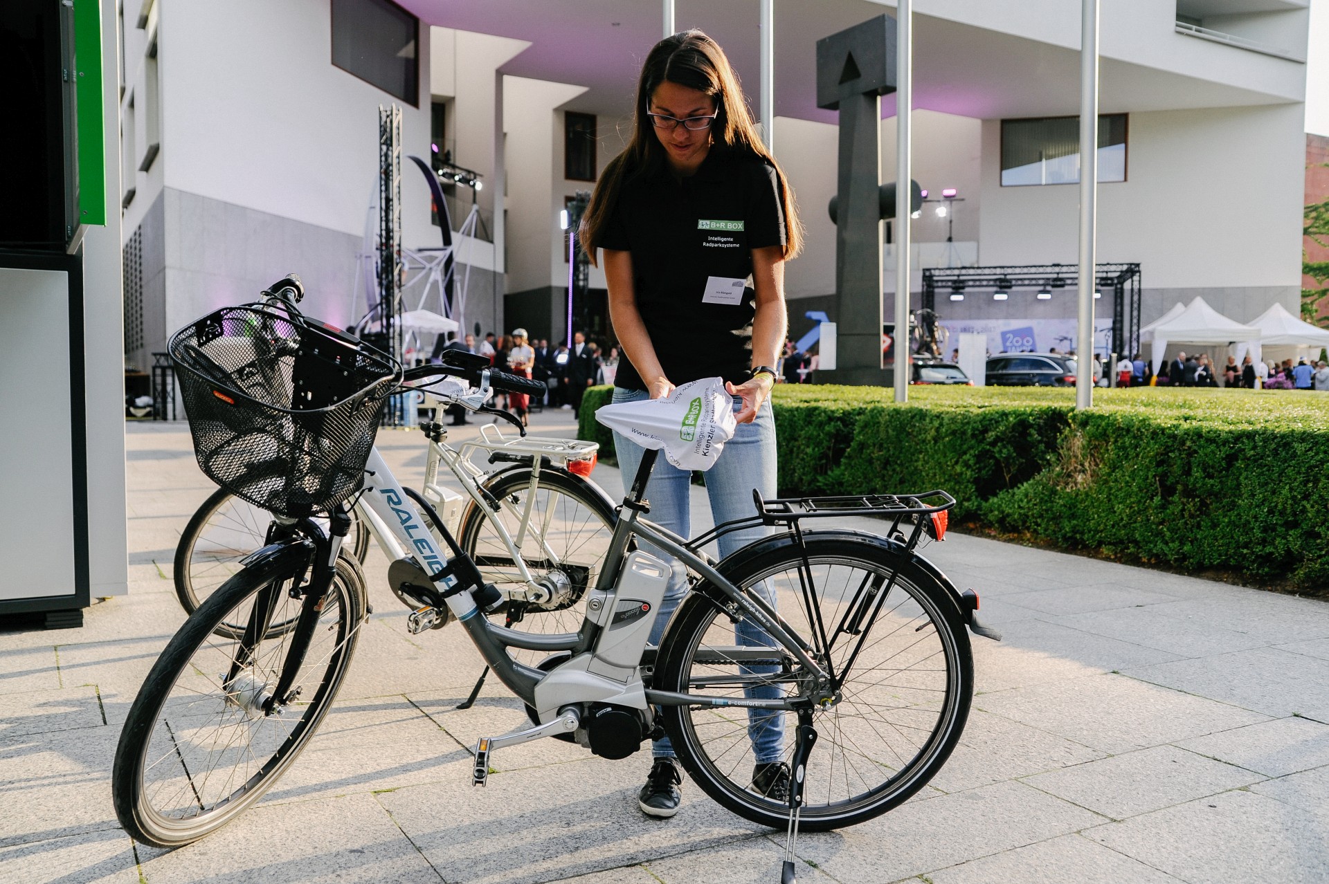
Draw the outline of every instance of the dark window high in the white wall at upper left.
[[[332,0],[332,64],[411,106],[420,100],[420,20],[391,0]]]

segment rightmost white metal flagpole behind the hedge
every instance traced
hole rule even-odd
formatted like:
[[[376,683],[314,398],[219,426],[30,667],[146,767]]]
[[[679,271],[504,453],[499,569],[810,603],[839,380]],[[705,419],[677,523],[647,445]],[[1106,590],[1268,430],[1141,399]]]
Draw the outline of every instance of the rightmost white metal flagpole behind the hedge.
[[[1076,329],[1075,407],[1094,405],[1094,255],[1098,198],[1098,3],[1082,0],[1080,20],[1080,250],[1079,325]]]

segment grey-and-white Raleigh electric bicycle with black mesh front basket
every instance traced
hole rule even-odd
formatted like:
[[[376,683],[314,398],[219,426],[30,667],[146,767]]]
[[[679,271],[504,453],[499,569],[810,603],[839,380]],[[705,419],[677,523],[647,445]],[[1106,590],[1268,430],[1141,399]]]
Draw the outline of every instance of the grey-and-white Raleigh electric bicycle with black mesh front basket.
[[[272,524],[267,544],[170,640],[133,702],[112,784],[137,840],[177,847],[225,826],[276,782],[331,709],[368,616],[360,568],[338,555],[356,495],[427,575],[415,616],[456,617],[526,703],[528,729],[474,746],[476,784],[505,746],[561,737],[625,758],[667,734],[711,798],[787,830],[783,880],[792,881],[800,826],[833,830],[896,807],[960,739],[973,694],[966,626],[990,630],[977,624],[973,591],[961,593],[918,555],[924,538],[944,536],[954,499],[942,491],[754,495],[752,516],[686,540],[643,518],[658,455],[647,451],[585,617],[574,632],[537,634],[481,616],[504,595],[372,449],[379,407],[404,378],[453,374],[518,393],[536,382],[488,368],[403,373],[291,304],[223,308],[177,332],[170,352],[201,466]],[[880,518],[884,536],[804,527],[843,515]],[[720,561],[702,552],[754,526],[780,531]],[[658,648],[647,637],[670,565],[634,540],[691,575]],[[242,629],[219,632],[223,624]],[[546,657],[528,666],[509,649]],[[750,734],[772,727],[792,774],[779,798],[751,775]]]

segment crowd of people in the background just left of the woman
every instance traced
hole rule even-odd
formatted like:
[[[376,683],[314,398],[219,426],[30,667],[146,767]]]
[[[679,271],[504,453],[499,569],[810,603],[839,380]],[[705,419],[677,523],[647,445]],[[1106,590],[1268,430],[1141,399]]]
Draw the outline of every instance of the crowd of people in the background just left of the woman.
[[[597,384],[613,384],[618,368],[618,348],[603,353],[594,341],[587,341],[583,332],[573,334],[571,346],[566,340],[550,346],[545,338],[528,340],[526,329],[513,329],[512,334],[497,336],[489,332],[478,342],[474,334],[452,338],[435,349],[435,357],[443,350],[462,350],[489,357],[490,364],[504,372],[541,381],[548,388],[541,402],[530,402],[529,396],[509,393],[497,396],[496,407],[512,411],[525,423],[532,405],[556,409],[581,409],[586,389]],[[460,406],[448,410],[453,426],[466,423],[466,413]]]

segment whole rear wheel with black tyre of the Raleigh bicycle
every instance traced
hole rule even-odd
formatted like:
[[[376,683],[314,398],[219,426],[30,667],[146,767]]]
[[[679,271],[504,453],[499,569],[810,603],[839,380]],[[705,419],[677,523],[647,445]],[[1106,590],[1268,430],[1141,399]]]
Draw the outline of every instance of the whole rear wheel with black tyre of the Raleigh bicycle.
[[[841,698],[829,707],[813,711],[819,739],[808,761],[800,827],[805,831],[828,831],[885,814],[936,775],[964,733],[973,698],[974,669],[960,608],[946,588],[918,567],[901,546],[852,532],[807,532],[804,539],[809,563],[805,573],[812,577],[816,592],[824,596],[819,596],[817,607],[823,608],[823,621],[827,624],[852,624],[852,609],[864,604],[860,600],[874,599],[864,589],[877,585],[880,592],[885,587],[884,581],[894,573],[886,597],[876,608],[878,613],[872,616],[868,608],[864,609],[872,617],[860,624],[865,626],[867,657],[860,656],[851,668],[851,678],[843,688]],[[815,632],[811,625],[813,617],[805,615],[801,589],[796,588],[796,575],[801,568],[803,557],[791,535],[752,544],[723,563],[724,576],[735,585],[748,588],[764,583],[773,589],[780,600],[781,616],[812,646],[824,648],[817,644],[815,634],[809,634]],[[836,568],[845,572],[843,583],[836,576]],[[864,573],[861,583],[856,583],[857,572],[851,568]],[[795,576],[785,581],[780,575]],[[824,575],[820,585],[819,575]],[[876,583],[878,580],[881,583]],[[857,592],[849,595],[856,587]],[[792,600],[788,597],[791,593]],[[827,612],[823,603],[836,593],[837,604]],[[848,603],[844,601],[845,597],[849,599]],[[679,605],[661,641],[654,685],[662,690],[683,693],[695,688],[698,693],[740,696],[739,692],[748,689],[727,686],[724,681],[736,684],[747,678],[750,686],[756,684],[768,692],[783,690],[779,688],[781,681],[795,682],[799,665],[789,654],[781,654],[780,672],[776,673],[769,669],[759,673],[752,665],[744,672],[732,658],[728,662],[723,660],[723,652],[715,650],[720,646],[716,640],[727,640],[734,645],[738,626],[720,605],[722,600],[726,597],[718,589],[702,584],[698,592],[690,593]],[[827,613],[832,616],[825,616]],[[841,616],[843,621],[839,620]],[[924,623],[918,623],[920,619],[925,619]],[[925,633],[929,623],[933,629]],[[881,634],[882,629],[886,630],[885,634]],[[880,637],[874,637],[874,630]],[[839,666],[849,660],[843,652],[852,649],[855,640],[849,637],[837,648],[836,634],[832,633],[829,657]],[[870,645],[867,644],[868,637],[873,637]],[[894,640],[878,650],[877,646],[892,637]],[[893,650],[896,645],[900,648]],[[893,653],[888,653],[892,650]],[[913,662],[904,665],[908,661]],[[921,661],[928,661],[929,666],[918,668]],[[938,664],[945,664],[944,669],[932,668]],[[876,685],[868,684],[874,677],[873,672],[884,673]],[[938,672],[944,674],[937,677],[934,673]],[[868,677],[860,681],[856,673],[865,673]],[[896,678],[898,682],[886,684]],[[936,710],[929,706],[936,706]],[[744,715],[744,723],[736,717],[739,711],[719,706],[666,706],[663,722],[679,761],[707,795],[744,819],[783,828],[788,820],[788,806],[752,790],[752,769],[744,766],[744,759],[751,759],[750,763],[755,766],[754,733],[760,739],[762,729],[776,718],[762,723],[758,719],[773,715],[780,717],[783,723],[784,734],[779,749],[780,758],[788,762],[793,750],[796,715],[791,711],[755,711]],[[930,725],[929,719],[933,719]],[[913,754],[908,755],[906,745],[914,738],[917,745],[913,746]],[[872,739],[886,743],[889,754],[865,750],[863,743]],[[889,773],[889,776],[881,771]],[[885,779],[880,783],[869,782],[876,776]],[[853,782],[855,778],[861,786]],[[855,794],[860,788],[863,791]]]

